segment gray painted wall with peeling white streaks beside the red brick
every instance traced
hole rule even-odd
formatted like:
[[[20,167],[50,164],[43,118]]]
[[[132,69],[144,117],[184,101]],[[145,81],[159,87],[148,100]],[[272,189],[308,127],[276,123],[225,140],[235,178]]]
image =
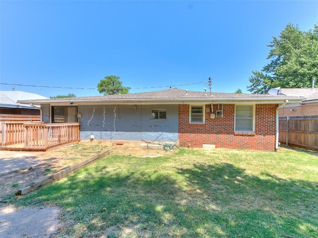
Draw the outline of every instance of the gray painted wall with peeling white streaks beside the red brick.
[[[152,109],[166,110],[166,119],[151,119]],[[97,140],[173,142],[178,139],[178,105],[79,106],[80,137]]]

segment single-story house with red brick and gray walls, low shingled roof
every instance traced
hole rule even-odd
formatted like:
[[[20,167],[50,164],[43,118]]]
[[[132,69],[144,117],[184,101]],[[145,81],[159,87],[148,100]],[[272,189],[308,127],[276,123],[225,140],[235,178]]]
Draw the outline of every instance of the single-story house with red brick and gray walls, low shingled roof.
[[[81,139],[173,142],[181,146],[278,148],[278,108],[305,98],[284,95],[155,92],[61,99],[40,104],[42,121],[80,122]]]

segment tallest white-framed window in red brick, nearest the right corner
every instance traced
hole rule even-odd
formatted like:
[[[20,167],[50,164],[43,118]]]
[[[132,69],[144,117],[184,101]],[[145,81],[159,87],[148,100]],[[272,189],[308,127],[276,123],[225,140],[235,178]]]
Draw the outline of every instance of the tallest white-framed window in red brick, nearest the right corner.
[[[235,106],[235,131],[254,132],[254,106]]]

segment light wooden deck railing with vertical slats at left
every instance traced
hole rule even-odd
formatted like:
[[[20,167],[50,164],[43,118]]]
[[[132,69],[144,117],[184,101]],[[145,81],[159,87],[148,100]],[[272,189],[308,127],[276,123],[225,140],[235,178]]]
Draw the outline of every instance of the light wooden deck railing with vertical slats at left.
[[[16,122],[2,124],[2,146],[24,143],[23,148],[45,150],[80,141],[80,123]]]

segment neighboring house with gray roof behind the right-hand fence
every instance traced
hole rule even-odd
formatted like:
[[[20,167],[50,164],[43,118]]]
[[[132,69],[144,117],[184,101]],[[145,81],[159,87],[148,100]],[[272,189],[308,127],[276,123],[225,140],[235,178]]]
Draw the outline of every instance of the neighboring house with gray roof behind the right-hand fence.
[[[318,88],[281,88],[280,95],[305,97],[301,103],[287,104],[279,116],[318,115]]]

